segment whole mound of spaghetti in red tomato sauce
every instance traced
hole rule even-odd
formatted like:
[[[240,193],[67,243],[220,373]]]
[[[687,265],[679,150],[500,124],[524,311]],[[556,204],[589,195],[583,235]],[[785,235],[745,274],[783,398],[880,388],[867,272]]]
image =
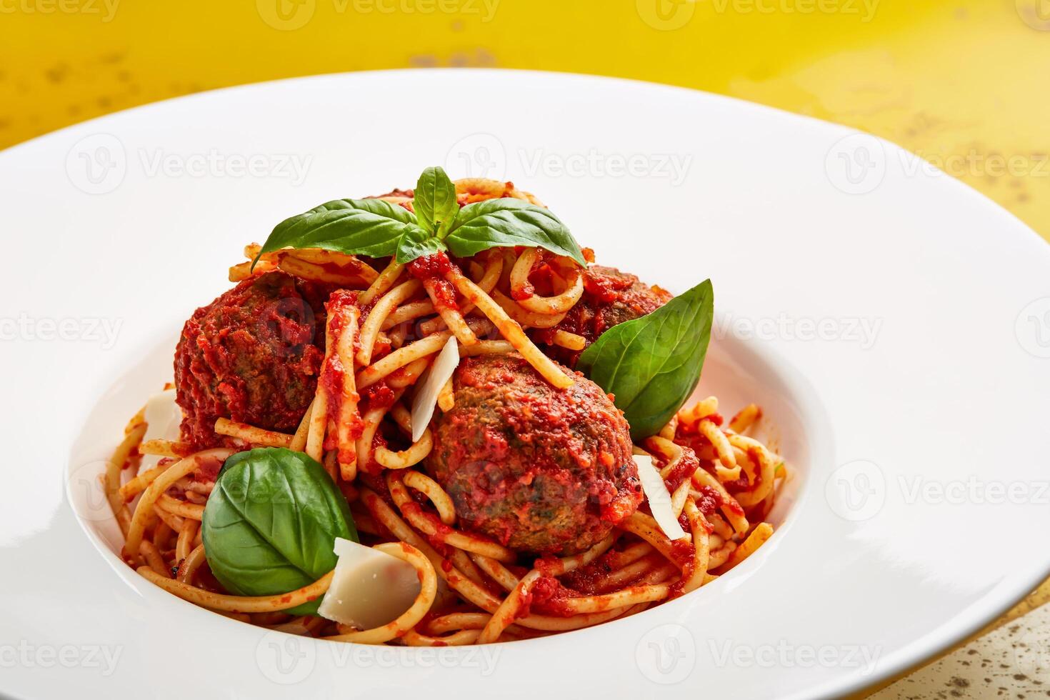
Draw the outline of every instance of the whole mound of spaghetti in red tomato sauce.
[[[539,204],[509,183],[467,179],[456,189],[461,204],[492,197]],[[400,193],[385,199],[412,207]],[[245,253],[255,258],[259,248]],[[424,468],[435,436],[427,427],[412,440],[411,398],[450,337],[464,358],[520,355],[556,389],[583,381],[551,354],[579,353],[592,340],[580,324],[560,325],[583,303],[585,271],[533,248],[446,259],[422,273],[414,263],[382,262],[281,250],[259,256],[254,270],[249,263],[230,269],[234,281],[281,270],[336,288],[326,303],[316,390],[287,430],[218,418],[212,429],[222,447],[144,441],[143,415],[132,419],[104,485],[125,533],[123,556],[142,576],[194,604],[270,629],[359,643],[459,645],[633,615],[714,580],[769,539],[773,529],[763,521],[789,472],[780,457],[749,436],[761,419],[757,406],[727,423],[714,398],[682,408],[634,448],[659,470],[684,537],[670,539],[648,506],[627,514],[596,544],[565,555],[529,555],[469,529],[453,494]],[[459,402],[454,382],[444,382],[437,412]],[[222,590],[202,542],[205,503],[218,465],[254,447],[304,452],[324,465],[363,542],[416,570],[420,591],[403,614],[356,630],[287,612],[323,595],[331,572],[280,595]],[[140,473],[147,453],[160,463]],[[450,595],[441,593],[445,589]]]

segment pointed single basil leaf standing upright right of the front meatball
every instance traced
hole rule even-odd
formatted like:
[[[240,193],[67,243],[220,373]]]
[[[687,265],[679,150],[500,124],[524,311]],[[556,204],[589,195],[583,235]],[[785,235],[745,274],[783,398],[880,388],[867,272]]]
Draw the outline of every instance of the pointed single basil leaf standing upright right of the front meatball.
[[[713,316],[709,279],[651,314],[603,333],[580,356],[576,369],[615,395],[632,438],[648,438],[696,388]]]

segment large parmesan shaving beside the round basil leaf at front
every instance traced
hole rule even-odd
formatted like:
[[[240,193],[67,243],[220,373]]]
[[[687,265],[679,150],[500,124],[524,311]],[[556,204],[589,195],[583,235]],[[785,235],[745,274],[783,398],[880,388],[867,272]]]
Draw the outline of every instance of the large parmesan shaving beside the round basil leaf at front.
[[[339,560],[317,609],[321,617],[371,630],[412,608],[422,587],[411,564],[342,537],[333,549]]]

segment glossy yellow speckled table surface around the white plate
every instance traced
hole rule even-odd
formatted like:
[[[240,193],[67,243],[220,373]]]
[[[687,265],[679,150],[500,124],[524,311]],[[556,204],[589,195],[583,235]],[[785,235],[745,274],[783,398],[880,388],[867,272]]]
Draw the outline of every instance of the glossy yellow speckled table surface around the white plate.
[[[227,85],[427,66],[635,78],[847,124],[1050,238],[1050,0],[0,0],[0,147]],[[1044,584],[992,627],[1047,600]]]

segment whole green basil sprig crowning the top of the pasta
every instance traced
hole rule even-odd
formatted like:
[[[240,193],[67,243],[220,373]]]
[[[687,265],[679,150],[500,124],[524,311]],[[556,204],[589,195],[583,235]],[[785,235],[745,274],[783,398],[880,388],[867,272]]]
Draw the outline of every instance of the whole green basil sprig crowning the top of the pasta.
[[[278,224],[259,255],[289,247],[322,248],[396,256],[404,264],[442,251],[469,257],[490,248],[537,246],[587,264],[568,228],[547,209],[512,197],[460,208],[456,186],[441,168],[423,171],[413,206],[415,214],[382,199],[329,201]]]

